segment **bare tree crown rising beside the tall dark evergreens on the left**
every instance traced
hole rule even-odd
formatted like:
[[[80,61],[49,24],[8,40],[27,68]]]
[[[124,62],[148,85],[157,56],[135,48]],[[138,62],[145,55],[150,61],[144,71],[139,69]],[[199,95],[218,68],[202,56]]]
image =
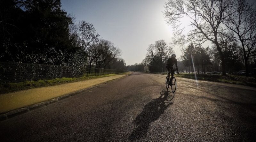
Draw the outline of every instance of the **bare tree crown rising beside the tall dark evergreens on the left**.
[[[86,51],[86,49],[91,46],[94,41],[97,41],[97,37],[100,35],[96,33],[96,29],[92,24],[86,21],[80,21],[78,24],[78,35],[80,40],[81,48]]]

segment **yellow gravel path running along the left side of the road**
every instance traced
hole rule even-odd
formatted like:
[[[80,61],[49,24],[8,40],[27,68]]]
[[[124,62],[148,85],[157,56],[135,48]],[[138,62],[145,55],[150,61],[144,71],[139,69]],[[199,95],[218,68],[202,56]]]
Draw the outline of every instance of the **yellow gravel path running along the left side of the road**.
[[[127,73],[130,74],[130,73]],[[109,80],[123,77],[124,75],[115,75],[104,78],[96,78],[73,83],[66,83],[56,86],[33,88],[13,93],[0,95],[0,113],[8,112],[13,109],[26,107],[38,102],[56,98],[68,93],[73,93]]]

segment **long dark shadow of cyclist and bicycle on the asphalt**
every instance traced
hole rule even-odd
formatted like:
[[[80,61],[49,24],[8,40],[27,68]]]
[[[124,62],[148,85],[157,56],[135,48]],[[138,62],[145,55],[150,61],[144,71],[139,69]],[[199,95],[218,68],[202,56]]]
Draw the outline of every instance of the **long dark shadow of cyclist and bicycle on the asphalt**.
[[[130,139],[135,140],[145,135],[150,123],[157,120],[164,113],[164,110],[172,105],[170,102],[174,98],[172,91],[163,89],[160,94],[159,98],[147,103],[143,111],[133,120],[133,123],[137,124],[138,127],[132,131]]]

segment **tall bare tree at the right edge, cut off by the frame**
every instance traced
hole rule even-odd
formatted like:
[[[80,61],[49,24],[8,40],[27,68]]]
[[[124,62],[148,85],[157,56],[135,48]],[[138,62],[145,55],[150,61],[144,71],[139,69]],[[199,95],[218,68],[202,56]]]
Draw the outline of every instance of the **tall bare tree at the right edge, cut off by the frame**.
[[[236,0],[232,15],[224,20],[228,30],[236,34],[236,40],[241,42],[246,76],[249,76],[248,59],[256,56],[256,10],[245,0]]]

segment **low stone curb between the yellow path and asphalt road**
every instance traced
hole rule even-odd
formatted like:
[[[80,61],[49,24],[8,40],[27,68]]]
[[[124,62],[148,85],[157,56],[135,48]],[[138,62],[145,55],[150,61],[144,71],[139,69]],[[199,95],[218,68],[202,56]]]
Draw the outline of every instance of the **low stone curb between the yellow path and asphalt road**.
[[[131,73],[132,74],[132,73]],[[124,78],[126,76],[129,76],[131,74],[127,74],[123,77],[120,77],[120,78]],[[42,102],[39,102],[39,103],[36,103],[36,104],[33,104],[33,105],[29,105],[29,106],[26,106],[26,107],[23,107],[23,108],[18,108],[18,109],[14,109],[14,110],[11,110],[11,111],[8,111],[8,112],[4,112],[4,113],[1,113],[0,114],[0,121],[4,121],[8,118],[12,118],[14,116],[18,116],[18,115],[21,115],[21,114],[24,114],[24,113],[27,113],[29,111],[32,111],[32,110],[35,110],[37,108],[42,108],[42,107],[45,107],[45,106],[48,106],[50,104],[53,104],[55,102],[58,102],[58,101],[61,101],[61,100],[64,100],[64,99],[67,99],[69,97],[72,97],[72,96],[75,96],[79,93],[82,93],[86,90],[89,90],[89,89],[92,89],[92,88],[95,88],[95,87],[99,87],[101,85],[104,85],[104,84],[107,84],[107,83],[110,83],[112,81],[115,81],[117,79],[120,79],[120,78],[115,78],[115,79],[112,79],[112,80],[108,80],[106,82],[103,82],[103,83],[100,83],[100,84],[97,84],[95,86],[91,86],[91,87],[88,87],[88,88],[84,88],[82,90],[78,90],[76,92],[72,92],[72,93],[68,93],[68,94],[65,94],[65,95],[62,95],[62,96],[59,96],[57,98],[53,98],[53,99],[50,99],[50,100],[47,100],[47,101],[42,101]]]

